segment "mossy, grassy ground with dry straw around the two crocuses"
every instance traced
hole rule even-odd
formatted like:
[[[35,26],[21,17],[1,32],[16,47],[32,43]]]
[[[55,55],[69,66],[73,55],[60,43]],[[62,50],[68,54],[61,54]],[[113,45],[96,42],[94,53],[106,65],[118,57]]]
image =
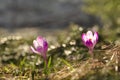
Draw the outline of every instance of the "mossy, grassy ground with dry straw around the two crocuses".
[[[120,33],[118,29],[106,29],[108,33],[97,30],[99,41],[93,57],[81,41],[87,29],[76,24],[66,30],[26,28],[2,35],[0,80],[120,80]],[[49,43],[47,57],[51,65],[47,76],[43,58],[30,50],[37,35]]]

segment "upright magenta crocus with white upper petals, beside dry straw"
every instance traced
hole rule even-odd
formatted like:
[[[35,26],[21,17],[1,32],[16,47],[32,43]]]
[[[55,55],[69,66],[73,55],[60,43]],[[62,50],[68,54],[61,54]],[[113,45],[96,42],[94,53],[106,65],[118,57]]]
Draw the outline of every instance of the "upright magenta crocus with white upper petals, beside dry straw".
[[[82,41],[85,46],[89,48],[89,52],[92,53],[93,49],[98,41],[98,33],[92,31],[88,31],[87,33],[82,34]]]

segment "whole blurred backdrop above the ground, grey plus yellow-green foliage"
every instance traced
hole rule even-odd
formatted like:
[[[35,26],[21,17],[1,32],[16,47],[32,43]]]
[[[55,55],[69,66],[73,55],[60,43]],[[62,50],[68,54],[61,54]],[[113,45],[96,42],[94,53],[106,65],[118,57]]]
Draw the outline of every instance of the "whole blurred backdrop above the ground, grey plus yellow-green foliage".
[[[116,28],[119,14],[119,0],[0,0],[0,32],[51,32],[65,30],[71,23]]]

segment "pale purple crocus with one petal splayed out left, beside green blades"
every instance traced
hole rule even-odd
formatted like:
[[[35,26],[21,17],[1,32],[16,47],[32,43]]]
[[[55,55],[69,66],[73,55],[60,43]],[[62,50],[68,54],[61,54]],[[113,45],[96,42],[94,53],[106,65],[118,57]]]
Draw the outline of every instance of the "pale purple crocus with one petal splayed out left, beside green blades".
[[[46,56],[48,50],[47,41],[43,37],[38,36],[36,40],[33,40],[33,46],[34,47],[32,46],[30,47],[31,50],[36,54],[42,55],[42,57],[44,58],[47,64],[47,56]]]

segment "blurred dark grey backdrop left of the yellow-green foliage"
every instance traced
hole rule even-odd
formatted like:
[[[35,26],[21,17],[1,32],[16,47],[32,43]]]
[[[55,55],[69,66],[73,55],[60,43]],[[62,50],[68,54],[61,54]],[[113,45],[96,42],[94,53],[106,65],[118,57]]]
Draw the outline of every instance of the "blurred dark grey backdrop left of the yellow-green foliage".
[[[71,23],[102,26],[99,16],[82,10],[85,5],[84,0],[0,0],[0,28],[13,32],[26,28],[65,30]]]

